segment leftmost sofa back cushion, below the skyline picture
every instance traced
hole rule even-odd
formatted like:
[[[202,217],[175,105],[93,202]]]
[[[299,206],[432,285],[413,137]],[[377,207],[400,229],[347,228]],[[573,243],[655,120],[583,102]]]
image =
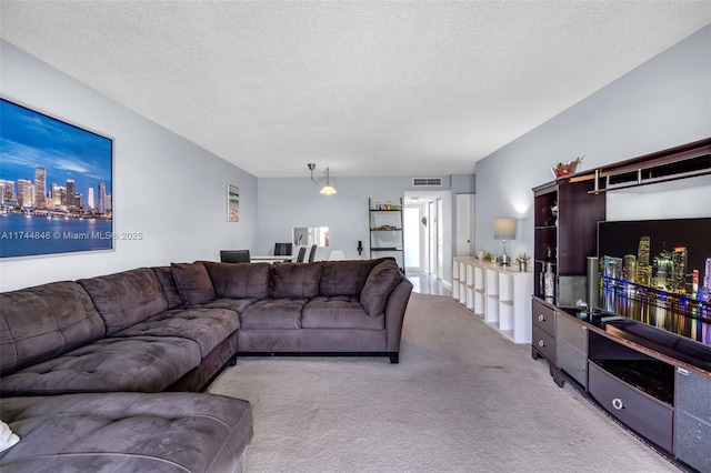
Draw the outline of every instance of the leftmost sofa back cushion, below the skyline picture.
[[[103,320],[71,281],[0,294],[0,374],[102,339]]]

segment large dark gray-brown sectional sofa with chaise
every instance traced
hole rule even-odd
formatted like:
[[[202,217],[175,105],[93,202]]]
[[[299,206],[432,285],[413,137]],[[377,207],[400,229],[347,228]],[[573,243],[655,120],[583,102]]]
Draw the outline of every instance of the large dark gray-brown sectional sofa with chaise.
[[[411,291],[381,259],[198,261],[2,293],[0,416],[21,440],[0,469],[240,471],[249,402],[199,391],[241,354],[397,363]]]

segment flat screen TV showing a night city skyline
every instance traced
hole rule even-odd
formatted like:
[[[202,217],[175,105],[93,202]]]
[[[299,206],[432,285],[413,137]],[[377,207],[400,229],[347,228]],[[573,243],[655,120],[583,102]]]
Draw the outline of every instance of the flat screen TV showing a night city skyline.
[[[711,218],[598,224],[601,309],[711,344]]]

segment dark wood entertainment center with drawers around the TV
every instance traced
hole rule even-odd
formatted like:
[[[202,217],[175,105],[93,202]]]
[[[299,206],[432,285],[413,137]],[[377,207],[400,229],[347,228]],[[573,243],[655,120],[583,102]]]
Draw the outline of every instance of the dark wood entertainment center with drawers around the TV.
[[[597,263],[598,222],[605,220],[609,192],[680,180],[683,185],[701,180],[711,189],[702,178],[709,174],[711,138],[533,189],[533,358],[549,363],[558,385],[568,381],[678,465],[699,472],[711,472],[708,305],[693,318],[672,315],[684,330],[703,332],[698,336],[703,341],[692,340],[644,318],[600,309],[595,301],[604,289],[597,272],[590,284],[590,268]],[[711,217],[711,198],[701,205],[709,212],[704,217]],[[555,274],[552,296],[544,294],[547,266]],[[597,293],[590,296],[593,288]],[[578,305],[579,300],[594,306]]]

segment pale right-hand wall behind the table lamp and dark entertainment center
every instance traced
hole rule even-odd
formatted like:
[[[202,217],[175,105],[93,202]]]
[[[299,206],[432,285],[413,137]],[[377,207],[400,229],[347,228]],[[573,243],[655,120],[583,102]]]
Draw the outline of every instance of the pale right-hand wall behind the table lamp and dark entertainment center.
[[[532,253],[531,189],[552,180],[553,163],[584,154],[579,170],[594,169],[710,135],[711,27],[707,27],[479,161],[477,246],[499,254],[493,220],[509,217],[519,221],[515,240],[507,242],[508,253]],[[663,205],[634,195],[611,193],[608,217],[711,217],[708,187],[665,191],[659,194]],[[635,209],[640,202],[644,213]]]

